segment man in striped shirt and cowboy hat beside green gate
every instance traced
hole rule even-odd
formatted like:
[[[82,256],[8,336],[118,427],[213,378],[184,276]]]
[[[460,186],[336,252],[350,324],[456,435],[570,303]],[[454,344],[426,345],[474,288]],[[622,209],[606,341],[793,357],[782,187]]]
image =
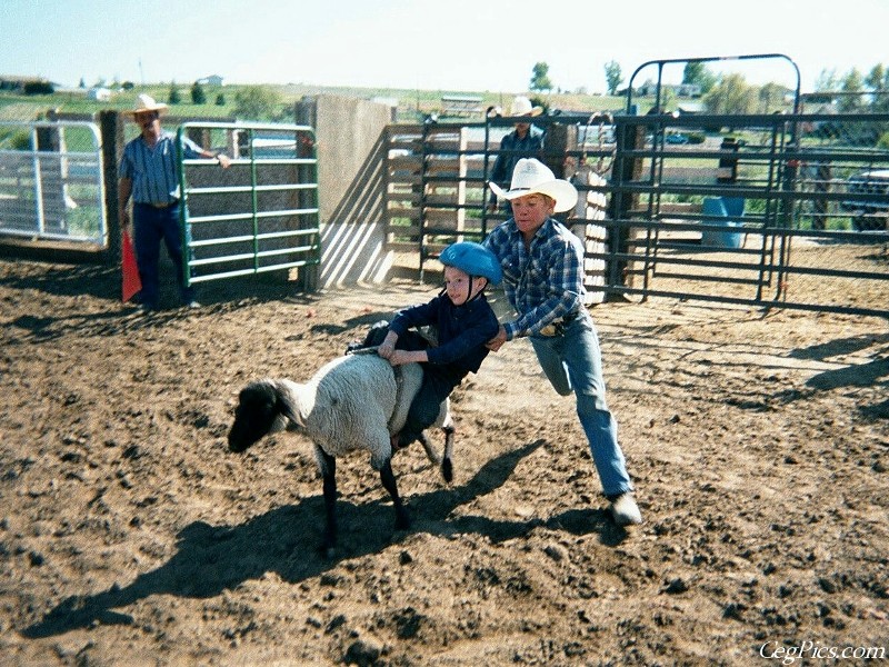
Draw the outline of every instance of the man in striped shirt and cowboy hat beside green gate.
[[[176,266],[182,303],[197,307],[193,290],[184,286],[182,273],[182,243],[179,226],[179,165],[176,151],[176,135],[160,126],[160,115],[167,104],[140,94],[132,110],[133,121],[141,129],[136,139],[123,147],[118,168],[118,215],[121,229],[129,228],[127,205],[132,197],[133,240],[136,261],[142,290],[139,292],[140,308],[150,312],[158,307],[158,260],[161,240]],[[227,169],[231,161],[222,153],[214,153],[182,138],[186,158],[208,158]]]

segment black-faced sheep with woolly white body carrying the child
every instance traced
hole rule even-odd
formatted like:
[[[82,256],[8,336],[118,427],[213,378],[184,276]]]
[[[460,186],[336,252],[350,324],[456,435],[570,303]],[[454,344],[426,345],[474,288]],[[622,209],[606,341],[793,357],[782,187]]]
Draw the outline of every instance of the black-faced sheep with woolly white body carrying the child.
[[[380,472],[382,486],[392,497],[396,528],[410,526],[392,472],[390,437],[404,425],[421,381],[422,369],[417,364],[393,368],[376,354],[352,354],[329,361],[306,384],[289,379],[252,382],[239,395],[229,449],[244,451],[263,436],[288,426],[312,440],[327,514],[322,550],[330,556],[337,544],[334,457],[348,451],[370,452],[370,466]],[[446,435],[443,456],[436,454],[426,436],[420,442],[429,459],[441,464],[446,481],[451,481],[455,428],[447,399],[434,426]]]

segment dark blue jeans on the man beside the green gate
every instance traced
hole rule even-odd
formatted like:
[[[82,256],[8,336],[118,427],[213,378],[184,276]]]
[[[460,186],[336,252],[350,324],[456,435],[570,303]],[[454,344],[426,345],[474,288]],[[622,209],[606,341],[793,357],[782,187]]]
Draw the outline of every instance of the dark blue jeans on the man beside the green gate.
[[[167,252],[176,267],[176,279],[179,285],[179,298],[182,303],[194,299],[194,290],[186,287],[182,272],[182,235],[179,230],[179,205],[167,208],[154,208],[148,203],[133,203],[132,218],[134,227],[136,262],[139,266],[139,279],[142,291],[139,300],[144,308],[157,308],[159,298],[158,260],[160,242],[167,246]]]

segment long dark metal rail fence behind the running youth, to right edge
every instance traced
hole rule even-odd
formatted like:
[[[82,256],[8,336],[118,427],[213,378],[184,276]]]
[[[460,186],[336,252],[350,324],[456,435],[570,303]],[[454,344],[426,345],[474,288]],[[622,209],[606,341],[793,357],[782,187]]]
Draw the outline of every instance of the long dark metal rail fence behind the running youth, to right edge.
[[[889,115],[603,118],[533,119],[538,157],[580,191],[566,222],[599,299],[889,315]],[[447,243],[505,219],[486,181],[511,122],[390,128],[390,242],[419,251],[421,277]],[[583,205],[602,197],[608,216],[590,217],[601,209]]]

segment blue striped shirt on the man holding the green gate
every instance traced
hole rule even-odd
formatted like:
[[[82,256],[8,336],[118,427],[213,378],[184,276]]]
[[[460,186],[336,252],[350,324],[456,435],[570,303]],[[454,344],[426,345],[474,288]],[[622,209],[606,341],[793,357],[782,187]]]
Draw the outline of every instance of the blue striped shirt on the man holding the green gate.
[[[186,158],[200,158],[201,148],[182,137]],[[140,135],[123,147],[118,177],[132,181],[132,200],[137,203],[170,203],[179,199],[179,162],[176,135],[163,132],[149,148]]]

